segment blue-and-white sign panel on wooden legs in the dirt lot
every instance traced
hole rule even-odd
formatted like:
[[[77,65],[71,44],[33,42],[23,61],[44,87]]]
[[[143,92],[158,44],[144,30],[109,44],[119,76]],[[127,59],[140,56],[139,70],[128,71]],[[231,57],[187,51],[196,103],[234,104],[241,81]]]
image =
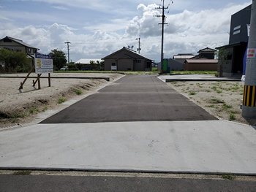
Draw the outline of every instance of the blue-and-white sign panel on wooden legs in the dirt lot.
[[[36,74],[53,73],[53,56],[36,53],[34,57],[34,66]]]

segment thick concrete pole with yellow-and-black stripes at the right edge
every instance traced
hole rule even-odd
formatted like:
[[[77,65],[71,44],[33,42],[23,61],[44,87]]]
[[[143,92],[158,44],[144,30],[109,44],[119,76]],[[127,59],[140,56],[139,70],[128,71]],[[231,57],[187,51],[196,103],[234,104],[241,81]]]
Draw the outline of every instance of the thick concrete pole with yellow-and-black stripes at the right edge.
[[[256,3],[252,0],[242,116],[256,119]]]

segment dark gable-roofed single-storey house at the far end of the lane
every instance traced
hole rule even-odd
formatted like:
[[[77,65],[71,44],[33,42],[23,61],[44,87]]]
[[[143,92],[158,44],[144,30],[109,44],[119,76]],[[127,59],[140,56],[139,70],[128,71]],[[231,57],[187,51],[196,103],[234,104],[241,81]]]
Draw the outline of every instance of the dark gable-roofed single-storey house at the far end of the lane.
[[[151,71],[152,60],[127,47],[102,58],[105,71]]]

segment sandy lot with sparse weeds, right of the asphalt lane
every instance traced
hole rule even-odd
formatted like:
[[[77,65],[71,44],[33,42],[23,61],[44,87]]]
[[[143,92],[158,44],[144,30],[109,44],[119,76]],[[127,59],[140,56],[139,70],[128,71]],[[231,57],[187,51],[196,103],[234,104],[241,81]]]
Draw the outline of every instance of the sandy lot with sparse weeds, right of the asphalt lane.
[[[256,120],[245,120],[241,116],[244,82],[176,81],[167,84],[219,119],[256,126]]]

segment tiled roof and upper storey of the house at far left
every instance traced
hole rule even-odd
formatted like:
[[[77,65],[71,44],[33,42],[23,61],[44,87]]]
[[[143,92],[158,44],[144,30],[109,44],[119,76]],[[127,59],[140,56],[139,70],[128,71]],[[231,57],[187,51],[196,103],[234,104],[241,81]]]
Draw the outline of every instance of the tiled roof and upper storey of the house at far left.
[[[24,52],[31,55],[37,53],[37,50],[39,50],[37,47],[29,45],[20,39],[15,39],[8,36],[0,39],[0,47],[17,52]]]

